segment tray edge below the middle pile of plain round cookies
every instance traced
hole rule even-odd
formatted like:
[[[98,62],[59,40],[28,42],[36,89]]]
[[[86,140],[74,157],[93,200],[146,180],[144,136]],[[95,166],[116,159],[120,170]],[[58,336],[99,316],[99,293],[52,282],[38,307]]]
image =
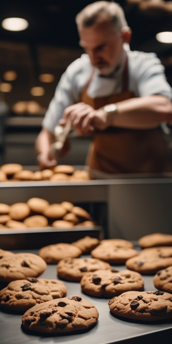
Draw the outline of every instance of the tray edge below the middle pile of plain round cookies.
[[[26,228],[1,229],[0,248],[3,250],[35,249],[57,243],[72,243],[84,236],[101,239],[103,228],[101,226],[74,226],[71,228]]]

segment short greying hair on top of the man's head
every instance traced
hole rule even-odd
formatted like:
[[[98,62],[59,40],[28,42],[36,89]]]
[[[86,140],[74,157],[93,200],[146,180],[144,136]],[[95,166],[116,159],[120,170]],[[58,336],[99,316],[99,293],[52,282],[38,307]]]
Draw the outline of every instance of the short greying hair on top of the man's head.
[[[107,20],[112,22],[115,32],[128,26],[122,7],[112,1],[96,1],[89,4],[77,14],[75,20],[78,29]]]

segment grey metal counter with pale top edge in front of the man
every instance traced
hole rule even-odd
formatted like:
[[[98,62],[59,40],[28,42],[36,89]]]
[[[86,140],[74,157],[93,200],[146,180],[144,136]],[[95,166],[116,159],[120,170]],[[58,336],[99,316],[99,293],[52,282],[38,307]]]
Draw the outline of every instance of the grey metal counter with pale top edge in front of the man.
[[[31,197],[46,198],[51,203],[69,201],[93,206],[104,203],[108,221],[106,236],[126,240],[138,240],[155,232],[171,234],[171,195],[170,177],[136,178],[135,175],[135,178],[87,181],[0,183],[0,202],[7,204],[27,202]]]

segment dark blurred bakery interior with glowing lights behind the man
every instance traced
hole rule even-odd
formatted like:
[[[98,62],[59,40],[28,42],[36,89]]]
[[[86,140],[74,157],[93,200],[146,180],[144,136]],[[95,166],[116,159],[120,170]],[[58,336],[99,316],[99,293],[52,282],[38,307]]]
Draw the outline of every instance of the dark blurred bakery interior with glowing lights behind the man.
[[[78,45],[75,16],[92,2],[0,1],[1,164],[36,165],[34,142],[45,111],[61,75],[83,52]],[[121,0],[118,3],[132,29],[130,49],[155,52],[172,86],[172,1]],[[25,21],[14,23],[8,18]],[[160,32],[169,32],[163,42],[156,38]],[[165,137],[172,151],[172,135]],[[71,151],[61,162],[84,164],[88,146],[88,139],[73,139]]]

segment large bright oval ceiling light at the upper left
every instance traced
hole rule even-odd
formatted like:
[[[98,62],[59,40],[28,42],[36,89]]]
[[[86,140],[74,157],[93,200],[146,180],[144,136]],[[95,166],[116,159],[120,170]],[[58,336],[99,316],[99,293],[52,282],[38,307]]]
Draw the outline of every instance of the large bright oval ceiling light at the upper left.
[[[29,23],[23,18],[6,18],[2,21],[2,27],[9,31],[22,31],[27,29]]]

